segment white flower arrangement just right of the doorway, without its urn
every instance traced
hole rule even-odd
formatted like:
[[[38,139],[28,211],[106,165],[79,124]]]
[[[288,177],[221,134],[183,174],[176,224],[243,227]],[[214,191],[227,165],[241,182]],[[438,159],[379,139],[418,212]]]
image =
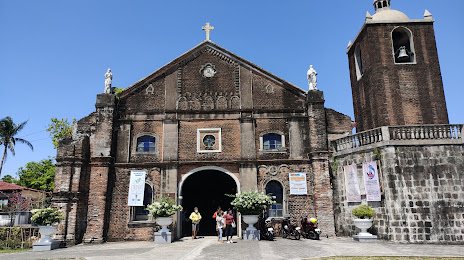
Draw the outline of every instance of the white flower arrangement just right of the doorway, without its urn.
[[[232,196],[235,197],[235,199],[232,201],[231,205],[244,215],[259,215],[270,205],[275,204],[270,194],[258,191],[242,192]]]

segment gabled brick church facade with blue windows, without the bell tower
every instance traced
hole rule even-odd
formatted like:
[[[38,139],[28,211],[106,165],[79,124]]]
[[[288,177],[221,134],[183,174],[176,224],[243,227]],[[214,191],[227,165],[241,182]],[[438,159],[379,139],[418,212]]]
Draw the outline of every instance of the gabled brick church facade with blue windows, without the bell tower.
[[[54,203],[66,211],[66,241],[153,237],[154,221],[127,206],[131,170],[147,173],[150,201],[170,196],[188,214],[202,205],[205,219],[230,207],[215,186],[235,194],[271,185],[281,192],[276,219],[317,215],[335,234],[327,140],[351,131],[351,120],[325,108],[322,91],[204,41],[119,98],[98,95],[95,107],[58,148]],[[290,172],[307,174],[307,195],[290,195]],[[177,236],[188,234],[176,220]]]

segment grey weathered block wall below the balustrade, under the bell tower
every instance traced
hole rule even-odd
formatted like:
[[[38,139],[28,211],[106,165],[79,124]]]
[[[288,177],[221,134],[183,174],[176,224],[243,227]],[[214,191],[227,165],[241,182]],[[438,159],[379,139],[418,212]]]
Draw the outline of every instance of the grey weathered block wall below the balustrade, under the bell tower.
[[[381,202],[368,202],[375,210],[371,231],[381,239],[411,243],[464,242],[464,147],[424,145],[381,147],[335,157],[332,162],[336,232],[358,231],[346,202],[343,166],[358,165],[361,193],[362,163],[376,160],[380,167]],[[335,168],[337,170],[335,171]],[[362,204],[366,204],[365,195]]]

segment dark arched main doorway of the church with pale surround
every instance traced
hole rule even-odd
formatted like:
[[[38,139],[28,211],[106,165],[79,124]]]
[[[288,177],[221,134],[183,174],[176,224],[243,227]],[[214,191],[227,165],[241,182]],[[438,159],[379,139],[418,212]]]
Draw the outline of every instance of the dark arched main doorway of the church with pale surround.
[[[178,187],[178,203],[184,208],[178,217],[178,237],[191,236],[192,225],[189,220],[194,207],[198,207],[202,220],[200,236],[216,235],[215,219],[212,218],[218,206],[225,211],[231,208],[233,198],[225,194],[240,192],[238,178],[224,168],[207,166],[196,168],[182,177]],[[237,219],[237,224],[240,219]],[[238,225],[238,228],[240,226]],[[238,229],[237,230],[240,230]]]

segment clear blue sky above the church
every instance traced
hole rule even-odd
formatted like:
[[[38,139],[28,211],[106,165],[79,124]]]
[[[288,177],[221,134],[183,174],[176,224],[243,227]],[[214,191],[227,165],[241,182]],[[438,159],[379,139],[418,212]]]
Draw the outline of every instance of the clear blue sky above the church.
[[[2,177],[29,161],[54,156],[45,128],[51,117],[94,111],[111,68],[113,86],[126,88],[205,39],[307,89],[318,71],[326,107],[353,118],[346,46],[372,0],[356,1],[7,1],[0,0],[0,118],[29,120]],[[411,19],[428,9],[451,123],[464,123],[462,0],[392,0]]]

